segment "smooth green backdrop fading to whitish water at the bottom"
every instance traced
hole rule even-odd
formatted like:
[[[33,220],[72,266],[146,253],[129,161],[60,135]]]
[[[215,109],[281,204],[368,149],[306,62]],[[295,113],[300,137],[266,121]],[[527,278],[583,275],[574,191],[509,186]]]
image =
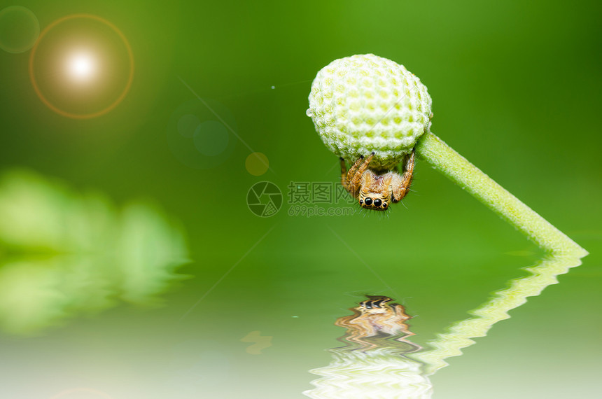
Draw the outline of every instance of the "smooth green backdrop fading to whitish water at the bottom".
[[[433,132],[590,252],[449,359],[432,377],[434,398],[596,397],[601,3],[0,1],[0,10],[14,5],[29,8],[41,30],[65,15],[104,18],[127,38],[135,69],[123,102],[80,120],[38,98],[31,50],[0,50],[2,172],[61,182],[67,197],[102,193],[110,208],[153,204],[186,234],[188,249],[174,261],[188,278],[155,284],[160,306],[127,300],[122,284],[106,293],[116,303],[103,311],[69,308],[34,335],[5,329],[3,398],[302,398],[315,378],[307,370],[328,364],[325,349],[339,345],[335,319],[363,293],[404,304],[415,316],[414,342],[425,344],[526,275],[521,267],[541,257],[538,248],[425,162],[417,162],[414,193],[386,218],[289,215],[291,182],[338,179],[337,158],[305,115],[311,80],[333,59],[367,52],[419,76],[433,97]],[[215,119],[197,95],[242,140],[221,131],[228,146],[215,144],[218,155],[195,152],[177,124],[184,115]],[[269,160],[261,176],[245,166],[254,151]],[[283,192],[275,216],[247,207],[260,181]],[[71,214],[78,203],[52,209]],[[46,221],[36,209],[27,215]],[[93,230],[96,219],[82,217]],[[133,231],[147,237],[146,228]],[[148,237],[137,251],[153,251],[164,236]],[[12,253],[1,239],[0,270]],[[117,245],[94,242],[101,254]],[[104,262],[115,267],[111,256]],[[241,342],[253,331],[272,337],[259,354]]]

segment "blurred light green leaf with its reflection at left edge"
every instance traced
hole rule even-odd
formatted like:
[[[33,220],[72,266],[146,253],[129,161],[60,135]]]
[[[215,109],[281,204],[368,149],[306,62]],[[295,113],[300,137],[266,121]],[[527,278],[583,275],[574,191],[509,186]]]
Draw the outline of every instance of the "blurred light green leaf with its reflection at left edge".
[[[31,172],[0,179],[0,326],[29,335],[118,300],[157,304],[182,279],[183,228],[150,204],[122,211]]]

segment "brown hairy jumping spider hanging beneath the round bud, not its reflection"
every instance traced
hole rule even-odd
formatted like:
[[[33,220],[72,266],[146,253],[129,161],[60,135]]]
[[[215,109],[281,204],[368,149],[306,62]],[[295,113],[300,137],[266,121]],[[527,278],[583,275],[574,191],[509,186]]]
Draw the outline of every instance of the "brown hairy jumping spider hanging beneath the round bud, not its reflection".
[[[341,184],[360,202],[360,206],[375,211],[386,211],[390,202],[399,202],[409,190],[414,173],[414,153],[405,162],[403,174],[388,171],[377,174],[368,169],[374,153],[364,159],[363,155],[349,168],[341,158]]]

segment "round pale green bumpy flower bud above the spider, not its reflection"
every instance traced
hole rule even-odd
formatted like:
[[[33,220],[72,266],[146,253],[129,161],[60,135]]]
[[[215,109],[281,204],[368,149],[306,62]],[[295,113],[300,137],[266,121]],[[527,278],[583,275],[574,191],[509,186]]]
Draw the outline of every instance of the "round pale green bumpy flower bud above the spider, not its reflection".
[[[426,86],[403,65],[353,55],[318,72],[307,116],[330,151],[347,162],[374,153],[370,167],[382,170],[401,162],[428,131],[431,104]]]

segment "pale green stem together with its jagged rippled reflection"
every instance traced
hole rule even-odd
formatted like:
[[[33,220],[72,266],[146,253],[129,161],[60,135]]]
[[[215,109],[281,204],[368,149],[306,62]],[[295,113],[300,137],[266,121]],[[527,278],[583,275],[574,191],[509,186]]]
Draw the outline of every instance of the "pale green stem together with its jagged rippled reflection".
[[[537,265],[527,269],[531,272],[529,276],[510,281],[509,288],[494,293],[488,302],[471,311],[470,314],[474,317],[458,321],[446,333],[437,335],[437,339],[429,342],[432,349],[412,356],[424,363],[426,374],[433,374],[447,365],[445,358],[458,356],[462,348],[474,344],[471,338],[484,337],[493,324],[510,317],[508,311],[524,304],[527,297],[539,295],[544,288],[557,283],[556,276],[559,274],[580,265],[580,259],[587,255],[587,251],[456,153],[435,134],[424,134],[416,144],[416,153],[549,254]]]

